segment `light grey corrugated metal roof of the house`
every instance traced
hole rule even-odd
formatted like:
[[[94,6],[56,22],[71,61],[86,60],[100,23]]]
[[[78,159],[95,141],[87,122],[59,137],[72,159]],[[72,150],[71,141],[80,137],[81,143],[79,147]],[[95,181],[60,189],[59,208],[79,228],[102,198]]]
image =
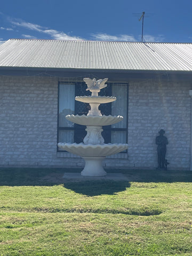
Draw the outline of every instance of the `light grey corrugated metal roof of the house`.
[[[10,39],[0,67],[192,71],[192,44]]]

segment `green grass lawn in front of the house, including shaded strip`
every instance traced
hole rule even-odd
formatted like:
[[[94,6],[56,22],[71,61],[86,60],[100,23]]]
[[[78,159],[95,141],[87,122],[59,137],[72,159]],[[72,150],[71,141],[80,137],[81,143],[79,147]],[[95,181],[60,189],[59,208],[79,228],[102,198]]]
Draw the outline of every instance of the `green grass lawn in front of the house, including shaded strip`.
[[[192,172],[61,179],[69,171],[0,169],[0,256],[192,255]]]

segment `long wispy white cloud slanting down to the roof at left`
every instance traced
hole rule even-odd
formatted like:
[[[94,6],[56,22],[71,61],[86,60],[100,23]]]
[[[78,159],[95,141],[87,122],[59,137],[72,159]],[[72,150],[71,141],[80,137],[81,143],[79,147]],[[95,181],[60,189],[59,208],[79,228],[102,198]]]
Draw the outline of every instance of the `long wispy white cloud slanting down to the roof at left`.
[[[44,33],[47,35],[50,35],[53,39],[59,39],[59,40],[83,40],[81,37],[77,36],[69,36],[63,31],[58,31],[55,29],[47,29],[45,27],[39,26],[37,24],[33,24],[30,22],[25,22],[25,21],[11,21],[11,23],[15,26],[20,26],[23,28],[27,28],[30,30],[37,31],[39,33]],[[28,35],[23,35],[23,36],[28,36]]]

